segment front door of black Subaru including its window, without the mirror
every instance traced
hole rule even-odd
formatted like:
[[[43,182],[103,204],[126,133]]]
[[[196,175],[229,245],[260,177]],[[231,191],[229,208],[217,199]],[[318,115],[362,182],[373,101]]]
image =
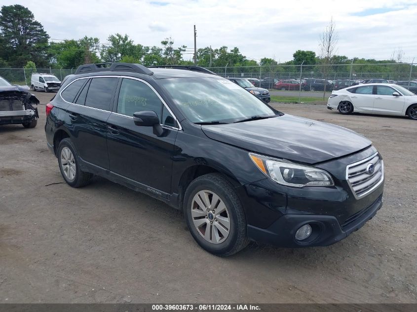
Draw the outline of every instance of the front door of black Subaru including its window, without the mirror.
[[[154,89],[145,81],[123,78],[107,120],[110,171],[151,187],[153,192],[171,194],[172,156],[178,123]],[[157,137],[152,127],[136,126],[133,113],[153,110],[164,134]],[[155,191],[156,190],[156,191]]]

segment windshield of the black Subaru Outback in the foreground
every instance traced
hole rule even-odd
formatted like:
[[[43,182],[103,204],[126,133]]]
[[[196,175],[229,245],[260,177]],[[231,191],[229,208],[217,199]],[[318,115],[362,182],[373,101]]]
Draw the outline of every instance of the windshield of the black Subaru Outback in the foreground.
[[[276,111],[230,80],[221,77],[160,80],[184,115],[193,123],[234,122]]]

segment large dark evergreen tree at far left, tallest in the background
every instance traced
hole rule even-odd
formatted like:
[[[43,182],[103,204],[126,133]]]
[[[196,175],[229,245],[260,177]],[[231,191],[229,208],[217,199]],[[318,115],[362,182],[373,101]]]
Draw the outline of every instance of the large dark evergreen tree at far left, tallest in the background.
[[[49,35],[23,5],[3,5],[0,11],[0,32],[5,59],[13,67],[22,67],[28,60],[46,66]]]

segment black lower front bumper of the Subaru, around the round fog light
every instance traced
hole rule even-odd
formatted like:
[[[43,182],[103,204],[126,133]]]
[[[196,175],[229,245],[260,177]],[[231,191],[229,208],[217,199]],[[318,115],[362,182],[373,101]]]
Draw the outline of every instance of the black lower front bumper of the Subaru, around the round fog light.
[[[268,228],[248,225],[248,237],[259,243],[279,247],[327,246],[346,238],[372,219],[382,206],[382,195],[369,207],[355,213],[340,224],[335,216],[284,214]],[[297,241],[295,234],[305,224],[312,227],[312,234],[303,241]]]

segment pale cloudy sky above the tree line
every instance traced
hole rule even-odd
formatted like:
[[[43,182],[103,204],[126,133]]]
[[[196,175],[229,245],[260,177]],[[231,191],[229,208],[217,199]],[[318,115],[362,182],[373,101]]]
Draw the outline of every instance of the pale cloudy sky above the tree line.
[[[1,0],[2,5],[16,1]],[[333,17],[338,55],[417,62],[417,0],[20,0],[52,39],[84,35],[107,43],[111,34],[160,46],[238,47],[248,59],[292,60],[296,50],[318,53],[320,34]],[[191,53],[192,51],[188,51]],[[185,54],[184,59],[192,58]]]

